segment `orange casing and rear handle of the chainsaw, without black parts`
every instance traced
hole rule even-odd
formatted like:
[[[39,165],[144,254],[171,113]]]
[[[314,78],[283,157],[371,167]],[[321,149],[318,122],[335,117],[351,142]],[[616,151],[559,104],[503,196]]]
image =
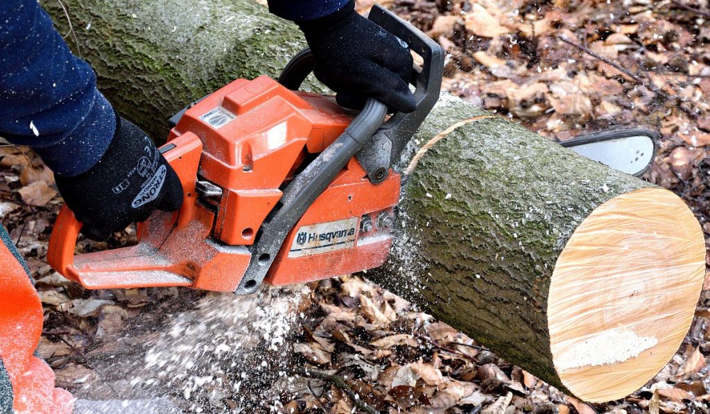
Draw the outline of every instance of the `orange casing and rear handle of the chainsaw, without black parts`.
[[[351,119],[329,97],[269,77],[235,80],[187,109],[161,147],[185,192],[179,212],[153,214],[138,227],[136,246],[74,256],[81,225],[65,206],[48,261],[89,289],[234,291],[249,266],[247,246],[285,184]],[[375,185],[351,158],[290,230],[264,281],[302,283],[380,266],[399,189],[398,173]]]

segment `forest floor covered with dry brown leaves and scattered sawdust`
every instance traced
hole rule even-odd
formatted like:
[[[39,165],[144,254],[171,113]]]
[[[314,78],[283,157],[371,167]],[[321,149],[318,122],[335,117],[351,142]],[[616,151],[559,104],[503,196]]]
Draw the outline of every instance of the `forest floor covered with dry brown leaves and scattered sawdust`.
[[[681,196],[710,234],[707,0],[377,2],[447,50],[444,88],[468,102],[556,140],[659,131],[644,178]],[[126,412],[149,411],[150,399],[161,413],[710,412],[710,278],[665,369],[623,400],[585,404],[359,276],[247,298],[84,290],[45,261],[60,205],[31,151],[0,148],[0,217],[45,308],[38,353],[80,398],[137,400]]]

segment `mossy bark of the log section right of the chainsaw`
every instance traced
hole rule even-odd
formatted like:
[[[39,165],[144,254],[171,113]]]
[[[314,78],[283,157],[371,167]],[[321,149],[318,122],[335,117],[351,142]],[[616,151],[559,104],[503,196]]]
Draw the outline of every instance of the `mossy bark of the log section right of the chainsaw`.
[[[415,142],[481,114],[444,99]],[[596,207],[651,186],[500,117],[473,121],[407,178],[391,260],[368,276],[564,389],[547,332],[557,257]]]

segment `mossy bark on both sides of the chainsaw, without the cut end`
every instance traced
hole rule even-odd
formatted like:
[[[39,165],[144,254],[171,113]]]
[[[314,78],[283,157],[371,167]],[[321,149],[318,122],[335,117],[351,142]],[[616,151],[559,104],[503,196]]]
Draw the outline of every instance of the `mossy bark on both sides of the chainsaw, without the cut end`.
[[[305,46],[293,24],[251,0],[68,4],[77,42],[67,41],[119,111],[158,140],[167,134],[165,120],[189,102],[238,77],[278,75]],[[67,33],[58,2],[43,5]],[[448,126],[481,114],[444,97],[410,156]],[[371,276],[561,386],[546,320],[556,258],[596,207],[647,186],[503,119],[474,121],[439,141],[408,178],[386,277]]]

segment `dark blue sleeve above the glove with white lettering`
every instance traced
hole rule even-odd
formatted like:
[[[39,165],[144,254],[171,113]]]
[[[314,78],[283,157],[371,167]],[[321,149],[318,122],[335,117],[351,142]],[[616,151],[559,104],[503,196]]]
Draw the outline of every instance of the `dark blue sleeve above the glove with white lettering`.
[[[37,0],[2,4],[0,136],[31,146],[55,173],[89,170],[116,131],[111,104]]]

